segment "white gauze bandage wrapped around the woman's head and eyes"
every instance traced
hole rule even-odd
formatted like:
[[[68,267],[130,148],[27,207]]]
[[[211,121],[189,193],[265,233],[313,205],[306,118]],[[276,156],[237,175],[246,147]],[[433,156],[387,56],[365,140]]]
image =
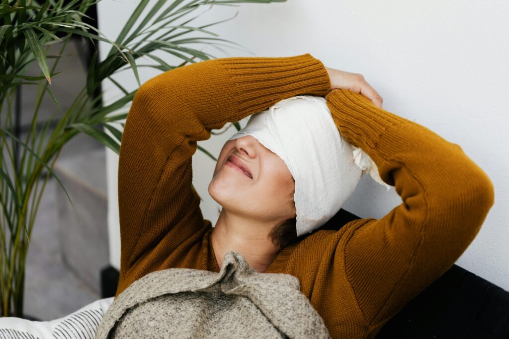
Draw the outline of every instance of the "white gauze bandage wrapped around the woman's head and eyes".
[[[298,236],[330,220],[365,173],[390,189],[370,156],[343,139],[323,97],[281,100],[252,114],[229,140],[246,135],[276,153],[290,170],[295,180]]]

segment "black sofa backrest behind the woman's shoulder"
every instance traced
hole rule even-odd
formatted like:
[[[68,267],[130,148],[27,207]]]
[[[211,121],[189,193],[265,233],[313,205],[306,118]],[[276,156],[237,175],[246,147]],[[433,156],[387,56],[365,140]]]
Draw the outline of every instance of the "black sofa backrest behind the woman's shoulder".
[[[360,219],[344,209],[320,229]],[[389,319],[377,338],[509,338],[509,292],[453,265]]]

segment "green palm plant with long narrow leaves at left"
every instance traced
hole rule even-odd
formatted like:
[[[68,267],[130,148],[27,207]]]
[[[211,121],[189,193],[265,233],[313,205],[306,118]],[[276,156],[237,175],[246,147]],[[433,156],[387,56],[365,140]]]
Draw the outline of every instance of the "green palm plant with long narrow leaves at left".
[[[187,63],[195,63],[194,58],[208,60],[213,55],[185,44],[203,43],[221,45],[217,41],[231,43],[217,38],[217,34],[204,29],[223,21],[200,27],[187,24],[197,16],[175,22],[203,5],[234,6],[234,3],[271,3],[286,0],[142,0],[129,20],[122,28],[115,41],[106,38],[94,26],[83,22],[87,10],[100,0],[0,0],[0,316],[23,316],[24,266],[29,249],[30,235],[37,214],[39,202],[50,175],[53,175],[60,186],[62,182],[52,168],[62,147],[78,133],[86,133],[100,141],[106,147],[120,150],[122,132],[113,124],[124,126],[127,117],[126,107],[132,101],[136,90],[128,91],[112,76],[125,69],[131,69],[140,85],[138,68],[152,67],[160,71],[172,70]],[[211,6],[212,7],[212,6]],[[142,13],[146,12],[144,16]],[[198,15],[199,16],[199,15]],[[230,19],[228,19],[230,20]],[[201,32],[213,37],[182,36],[190,32]],[[99,62],[97,51],[93,54],[88,70],[87,81],[74,98],[70,107],[64,112],[52,93],[50,84],[54,81],[54,72],[62,51],[72,36],[82,36],[92,41],[103,41],[111,45],[104,58]],[[49,45],[62,45],[58,55],[48,55]],[[239,44],[236,44],[239,45]],[[240,45],[239,45],[240,46]],[[231,46],[229,46],[231,47]],[[171,66],[155,55],[163,51],[182,59],[177,66]],[[185,55],[189,54],[189,56]],[[50,69],[48,58],[54,58]],[[151,60],[152,64],[137,65],[139,58]],[[27,75],[27,68],[37,63],[42,75]],[[109,79],[123,93],[115,102],[103,106],[101,94],[97,91],[103,80]],[[12,133],[12,109],[16,92],[21,85],[38,86],[32,123],[25,140],[20,140]],[[51,130],[47,141],[50,122],[47,120],[38,130],[38,112],[41,101],[49,95],[55,104],[55,114],[62,114],[58,123]],[[124,109],[125,111],[118,112]],[[5,111],[5,112],[4,112]],[[5,115],[3,117],[2,115]],[[240,129],[238,121],[232,124]],[[218,133],[212,133],[218,134]],[[10,139],[10,143],[8,140]],[[16,157],[16,147],[22,147],[21,157]],[[207,156],[214,158],[210,152],[198,146]],[[7,157],[4,157],[7,153]],[[14,156],[13,156],[14,154]],[[43,170],[47,172],[44,175]],[[42,180],[43,179],[43,180]],[[42,181],[42,187],[39,183]],[[67,191],[65,191],[67,195]],[[74,205],[67,195],[71,205]],[[29,208],[29,202],[31,205]],[[74,209],[76,212],[76,210]],[[77,214],[77,213],[76,213]],[[78,215],[79,219],[79,215]]]

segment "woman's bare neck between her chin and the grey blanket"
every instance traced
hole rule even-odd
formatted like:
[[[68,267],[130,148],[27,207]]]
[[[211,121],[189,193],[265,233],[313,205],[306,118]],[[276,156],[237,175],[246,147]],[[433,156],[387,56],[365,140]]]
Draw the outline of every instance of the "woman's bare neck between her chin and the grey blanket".
[[[236,251],[249,266],[264,272],[279,252],[268,238],[274,226],[275,223],[261,224],[260,221],[242,218],[223,208],[210,235],[219,268],[224,255]]]

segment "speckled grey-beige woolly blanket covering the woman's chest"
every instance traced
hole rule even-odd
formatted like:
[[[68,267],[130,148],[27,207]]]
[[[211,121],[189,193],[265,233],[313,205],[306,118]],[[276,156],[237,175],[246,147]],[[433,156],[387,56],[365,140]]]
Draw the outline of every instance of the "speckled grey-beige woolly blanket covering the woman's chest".
[[[112,302],[96,338],[330,338],[290,274],[259,273],[237,252],[216,272],[168,268]]]

